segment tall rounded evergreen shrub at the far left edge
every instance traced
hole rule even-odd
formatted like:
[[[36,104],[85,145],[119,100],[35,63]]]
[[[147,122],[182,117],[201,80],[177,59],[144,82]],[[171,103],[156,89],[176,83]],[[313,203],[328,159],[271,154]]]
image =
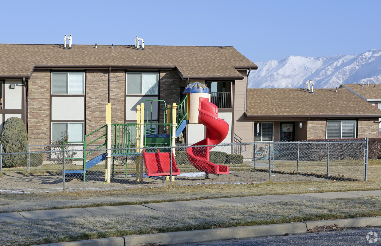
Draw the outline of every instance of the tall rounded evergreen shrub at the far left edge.
[[[0,142],[3,145],[3,153],[27,152],[28,133],[24,122],[17,117],[11,117],[5,121],[0,134]],[[26,155],[3,155],[3,167],[10,168],[24,166]]]

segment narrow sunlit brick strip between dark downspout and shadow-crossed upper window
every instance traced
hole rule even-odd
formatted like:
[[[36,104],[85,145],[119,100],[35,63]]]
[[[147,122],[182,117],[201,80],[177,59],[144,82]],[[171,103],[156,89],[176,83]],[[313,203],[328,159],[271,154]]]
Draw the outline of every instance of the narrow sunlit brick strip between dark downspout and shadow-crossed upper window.
[[[126,94],[126,78],[124,70],[111,71],[111,123],[124,124],[125,123],[125,94]],[[107,98],[106,98],[107,101]]]

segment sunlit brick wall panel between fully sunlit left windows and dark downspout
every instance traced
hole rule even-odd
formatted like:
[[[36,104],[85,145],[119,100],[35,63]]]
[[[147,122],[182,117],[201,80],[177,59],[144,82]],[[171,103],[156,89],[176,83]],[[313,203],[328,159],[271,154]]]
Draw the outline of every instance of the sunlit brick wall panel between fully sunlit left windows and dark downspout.
[[[86,134],[106,124],[108,80],[108,70],[86,71]]]

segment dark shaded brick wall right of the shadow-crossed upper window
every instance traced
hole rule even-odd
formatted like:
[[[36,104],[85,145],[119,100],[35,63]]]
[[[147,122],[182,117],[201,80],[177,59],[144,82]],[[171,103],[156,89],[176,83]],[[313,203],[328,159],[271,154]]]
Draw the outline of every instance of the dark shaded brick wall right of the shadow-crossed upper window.
[[[176,70],[160,71],[159,99],[164,100],[166,104],[179,104],[180,100],[180,82],[181,78]],[[164,122],[164,104],[159,107],[159,123]],[[160,128],[159,133],[162,133]]]

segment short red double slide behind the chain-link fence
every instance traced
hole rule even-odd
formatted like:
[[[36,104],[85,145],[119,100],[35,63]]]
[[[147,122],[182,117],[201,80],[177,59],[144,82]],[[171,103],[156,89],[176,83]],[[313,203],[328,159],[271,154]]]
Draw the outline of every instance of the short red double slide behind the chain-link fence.
[[[176,166],[174,156],[168,152],[148,153],[143,149],[143,160],[146,166],[147,176],[170,176],[171,169],[171,156],[172,156],[172,175],[180,174],[180,170]]]

